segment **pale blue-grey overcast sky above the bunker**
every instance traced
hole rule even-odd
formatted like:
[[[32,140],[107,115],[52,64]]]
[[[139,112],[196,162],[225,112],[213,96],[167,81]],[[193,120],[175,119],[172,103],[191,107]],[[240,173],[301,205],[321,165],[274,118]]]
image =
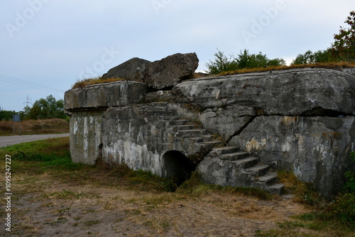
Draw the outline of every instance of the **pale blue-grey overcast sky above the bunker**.
[[[132,57],[195,52],[200,71],[217,48],[291,62],[329,48],[355,1],[2,0],[0,6],[0,106],[20,111],[50,94],[62,99],[77,80]]]

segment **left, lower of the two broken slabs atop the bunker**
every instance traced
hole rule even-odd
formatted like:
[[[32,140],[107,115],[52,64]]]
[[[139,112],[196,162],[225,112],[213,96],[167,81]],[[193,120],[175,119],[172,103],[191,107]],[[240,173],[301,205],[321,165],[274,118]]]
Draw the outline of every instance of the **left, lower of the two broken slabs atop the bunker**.
[[[151,62],[148,60],[133,57],[130,60],[111,68],[102,77],[122,78],[133,82],[143,82],[143,71],[146,69],[146,65],[149,65],[150,63]]]

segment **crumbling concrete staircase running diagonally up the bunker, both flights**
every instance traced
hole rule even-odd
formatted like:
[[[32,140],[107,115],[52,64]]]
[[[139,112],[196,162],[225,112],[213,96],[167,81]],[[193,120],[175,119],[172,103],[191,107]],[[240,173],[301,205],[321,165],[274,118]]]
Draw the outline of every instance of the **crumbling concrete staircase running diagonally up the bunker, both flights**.
[[[209,134],[206,129],[190,119],[181,118],[177,111],[167,109],[160,103],[152,103],[149,113],[160,121],[161,126],[171,131],[178,139],[187,140],[197,150],[203,150],[205,155],[212,154],[233,170],[234,177],[229,177],[231,186],[257,187],[273,194],[283,193],[283,184],[278,183],[276,172],[269,165],[263,164],[260,158],[241,150],[239,147],[225,146],[217,136]],[[234,180],[234,181],[233,181]]]

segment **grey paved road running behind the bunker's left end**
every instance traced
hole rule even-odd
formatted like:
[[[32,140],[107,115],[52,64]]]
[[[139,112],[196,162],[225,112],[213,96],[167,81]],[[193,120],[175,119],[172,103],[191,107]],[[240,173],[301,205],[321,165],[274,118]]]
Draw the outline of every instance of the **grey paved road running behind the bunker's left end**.
[[[69,133],[62,134],[43,134],[43,135],[23,135],[23,136],[0,136],[0,148],[18,143],[26,143],[33,140],[44,140],[47,138],[67,137]]]

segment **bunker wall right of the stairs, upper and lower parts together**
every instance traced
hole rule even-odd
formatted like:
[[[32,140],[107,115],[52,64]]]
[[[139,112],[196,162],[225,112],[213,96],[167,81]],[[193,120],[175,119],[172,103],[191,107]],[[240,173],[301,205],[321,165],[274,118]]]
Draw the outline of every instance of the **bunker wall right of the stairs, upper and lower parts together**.
[[[302,69],[195,79],[178,84],[172,94],[175,102],[197,109],[202,125],[228,145],[256,153],[277,169],[293,170],[331,197],[342,189],[355,149],[354,71]],[[217,170],[216,177],[222,175]]]

